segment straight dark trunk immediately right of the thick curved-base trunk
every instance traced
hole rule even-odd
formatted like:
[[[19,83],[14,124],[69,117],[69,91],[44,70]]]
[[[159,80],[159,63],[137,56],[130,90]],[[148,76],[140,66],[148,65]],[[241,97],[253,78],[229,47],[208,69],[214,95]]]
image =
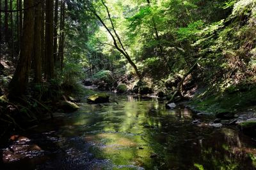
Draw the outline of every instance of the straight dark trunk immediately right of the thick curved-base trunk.
[[[40,0],[36,0],[37,4]],[[35,6],[35,36],[34,36],[34,59],[35,59],[35,79],[36,83],[42,81],[42,60],[41,60],[41,31],[42,31],[42,4]]]

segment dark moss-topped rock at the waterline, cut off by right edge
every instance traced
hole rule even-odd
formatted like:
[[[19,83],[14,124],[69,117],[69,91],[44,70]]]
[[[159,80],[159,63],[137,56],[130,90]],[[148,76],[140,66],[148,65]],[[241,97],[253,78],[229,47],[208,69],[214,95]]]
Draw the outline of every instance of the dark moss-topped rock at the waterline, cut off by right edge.
[[[256,136],[256,120],[247,120],[239,123],[239,128],[244,134]]]

